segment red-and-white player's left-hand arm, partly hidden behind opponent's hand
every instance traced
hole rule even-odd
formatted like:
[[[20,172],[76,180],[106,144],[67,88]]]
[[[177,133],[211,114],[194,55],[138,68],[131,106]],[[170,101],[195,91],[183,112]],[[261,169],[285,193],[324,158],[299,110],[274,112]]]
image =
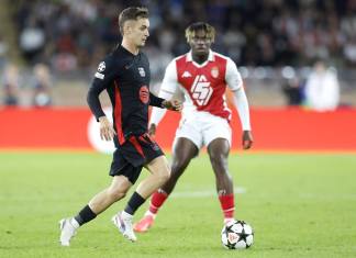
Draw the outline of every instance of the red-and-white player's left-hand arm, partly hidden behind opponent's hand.
[[[166,68],[165,77],[160,85],[158,97],[165,100],[170,100],[176,92],[177,86],[178,86],[177,67],[176,67],[176,60],[174,59],[168,64]],[[149,127],[148,127],[148,133],[151,135],[156,134],[156,127],[165,116],[166,111],[167,111],[166,109],[159,109],[159,108],[152,109]]]

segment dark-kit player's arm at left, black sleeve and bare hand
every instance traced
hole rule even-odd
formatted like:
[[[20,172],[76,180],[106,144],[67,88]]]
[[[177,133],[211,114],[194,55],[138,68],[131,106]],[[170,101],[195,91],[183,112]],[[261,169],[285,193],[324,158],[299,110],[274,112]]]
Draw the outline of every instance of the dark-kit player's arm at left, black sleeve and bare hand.
[[[113,69],[114,66],[111,63],[110,57],[107,57],[99,64],[87,94],[88,105],[100,123],[100,137],[105,141],[111,141],[115,135],[115,131],[101,108],[99,96],[115,78],[115,69]]]

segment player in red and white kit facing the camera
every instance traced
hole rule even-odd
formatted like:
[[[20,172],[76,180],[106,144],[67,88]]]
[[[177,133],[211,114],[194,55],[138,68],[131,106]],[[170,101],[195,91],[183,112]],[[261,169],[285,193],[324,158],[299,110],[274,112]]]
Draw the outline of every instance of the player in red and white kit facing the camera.
[[[216,178],[216,191],[224,223],[234,220],[234,187],[229,173],[227,157],[231,147],[231,111],[225,102],[226,86],[233,92],[243,127],[243,148],[253,144],[249,124],[248,102],[243,81],[235,63],[211,51],[214,29],[202,22],[193,23],[186,30],[191,51],[175,58],[166,68],[159,97],[171,99],[176,90],[185,96],[182,117],[177,128],[173,147],[170,179],[154,193],[149,210],[134,225],[134,231],[146,232],[154,223],[159,207],[173,192],[179,177],[202,146],[208,147],[210,161]],[[164,117],[165,110],[154,108],[149,133]]]

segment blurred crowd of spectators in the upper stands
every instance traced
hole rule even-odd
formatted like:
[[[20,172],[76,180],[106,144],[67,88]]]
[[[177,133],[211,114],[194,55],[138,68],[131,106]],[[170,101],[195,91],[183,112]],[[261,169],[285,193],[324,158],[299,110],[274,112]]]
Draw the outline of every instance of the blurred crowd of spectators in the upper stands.
[[[337,67],[356,65],[356,1],[353,0],[152,0],[130,1],[151,11],[145,52],[153,74],[188,48],[187,24],[216,27],[213,49],[244,66],[303,66],[315,58]],[[18,1],[19,47],[31,63],[54,69],[97,66],[118,38],[118,13],[126,1]]]

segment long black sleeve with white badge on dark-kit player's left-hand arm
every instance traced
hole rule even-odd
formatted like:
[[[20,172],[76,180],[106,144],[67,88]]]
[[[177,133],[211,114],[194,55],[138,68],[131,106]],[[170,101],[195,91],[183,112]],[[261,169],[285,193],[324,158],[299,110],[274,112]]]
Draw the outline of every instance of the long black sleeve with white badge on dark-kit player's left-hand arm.
[[[113,61],[110,57],[105,57],[99,64],[98,70],[94,74],[94,78],[87,94],[88,105],[92,114],[96,116],[97,121],[99,121],[100,116],[105,115],[102,111],[99,96],[104,89],[111,86],[116,76],[116,69],[112,63]]]

